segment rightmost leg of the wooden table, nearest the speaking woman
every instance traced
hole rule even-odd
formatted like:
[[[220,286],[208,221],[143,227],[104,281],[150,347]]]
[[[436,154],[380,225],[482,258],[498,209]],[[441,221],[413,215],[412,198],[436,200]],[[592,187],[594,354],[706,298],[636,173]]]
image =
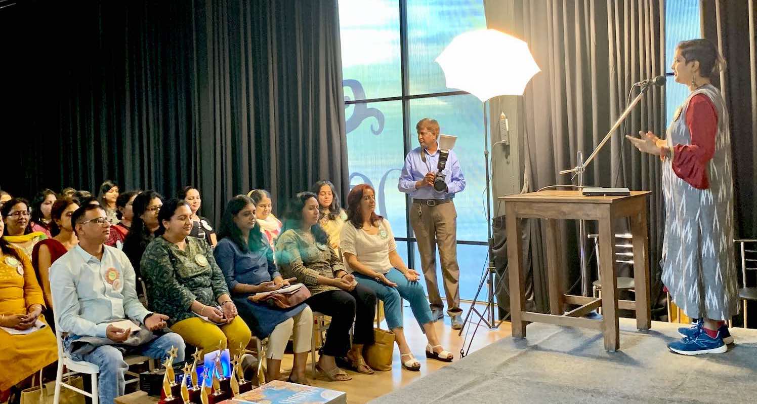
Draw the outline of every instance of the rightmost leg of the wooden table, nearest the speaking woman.
[[[650,263],[647,255],[646,199],[640,213],[631,216],[631,235],[634,237],[634,287],[636,299],[636,328],[649,330],[652,327],[650,312]]]

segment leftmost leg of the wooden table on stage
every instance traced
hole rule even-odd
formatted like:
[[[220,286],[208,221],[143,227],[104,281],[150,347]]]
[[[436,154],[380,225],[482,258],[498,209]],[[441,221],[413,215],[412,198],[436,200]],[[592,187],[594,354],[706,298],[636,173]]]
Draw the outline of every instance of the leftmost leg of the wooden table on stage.
[[[516,203],[505,203],[507,266],[510,283],[510,324],[512,324],[512,337],[523,338],[525,337],[525,321],[522,321],[521,316],[521,312],[525,308],[523,263],[521,260],[523,240],[521,238],[521,221],[516,217]]]

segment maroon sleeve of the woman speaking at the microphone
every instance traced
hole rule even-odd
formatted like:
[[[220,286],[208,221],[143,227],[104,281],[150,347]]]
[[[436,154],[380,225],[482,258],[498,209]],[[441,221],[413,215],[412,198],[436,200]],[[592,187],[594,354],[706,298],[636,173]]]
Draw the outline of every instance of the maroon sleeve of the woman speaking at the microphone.
[[[673,146],[673,171],[694,188],[708,189],[707,165],[715,154],[718,113],[704,94],[697,94],[689,101],[686,126],[691,133],[691,144]]]

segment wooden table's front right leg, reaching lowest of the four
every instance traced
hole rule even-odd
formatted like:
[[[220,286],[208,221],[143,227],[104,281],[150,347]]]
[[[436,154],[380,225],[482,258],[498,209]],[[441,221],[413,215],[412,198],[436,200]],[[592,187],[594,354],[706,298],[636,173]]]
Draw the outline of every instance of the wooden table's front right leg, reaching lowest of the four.
[[[604,322],[605,349],[620,349],[618,327],[618,280],[615,278],[615,226],[609,207],[607,215],[600,219],[600,271],[602,271],[602,315]]]

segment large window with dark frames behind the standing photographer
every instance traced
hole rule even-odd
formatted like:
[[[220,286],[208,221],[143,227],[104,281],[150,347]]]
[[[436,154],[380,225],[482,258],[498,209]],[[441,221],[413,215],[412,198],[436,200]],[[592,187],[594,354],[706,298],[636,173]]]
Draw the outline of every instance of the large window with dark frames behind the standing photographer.
[[[378,213],[391,221],[400,255],[421,272],[397,180],[405,155],[418,146],[415,124],[422,117],[457,136],[454,150],[466,177],[455,197],[460,296],[473,299],[487,261],[484,110],[474,96],[447,88],[434,60],[455,36],[486,28],[483,1],[340,0],[339,19],[350,186],[376,189]]]

